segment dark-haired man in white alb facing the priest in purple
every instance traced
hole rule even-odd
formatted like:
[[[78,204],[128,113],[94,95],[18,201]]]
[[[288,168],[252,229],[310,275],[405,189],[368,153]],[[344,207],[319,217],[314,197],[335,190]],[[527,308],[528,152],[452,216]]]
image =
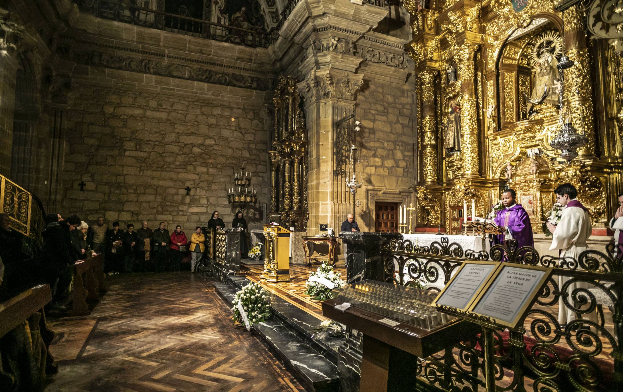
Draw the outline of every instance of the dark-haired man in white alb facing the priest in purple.
[[[588,237],[591,236],[591,217],[589,216],[588,209],[576,200],[576,197],[578,197],[578,190],[575,186],[569,183],[562,184],[554,189],[554,193],[556,194],[556,201],[560,203],[564,209],[558,225],[554,226],[550,222],[547,224],[549,231],[553,233],[549,250],[554,251],[558,249],[559,257],[573,257],[577,260],[578,256],[588,249],[586,241]],[[559,290],[562,290],[563,284],[567,280],[569,280],[568,277],[558,277]],[[576,282],[569,285],[566,289],[569,304],[573,305],[573,298],[571,297],[573,290],[576,288],[589,289],[592,287],[592,285],[586,282]],[[559,323],[566,325],[576,319],[575,313],[564,305],[562,299],[559,305]],[[592,314],[583,315],[583,318],[597,321],[596,315]]]

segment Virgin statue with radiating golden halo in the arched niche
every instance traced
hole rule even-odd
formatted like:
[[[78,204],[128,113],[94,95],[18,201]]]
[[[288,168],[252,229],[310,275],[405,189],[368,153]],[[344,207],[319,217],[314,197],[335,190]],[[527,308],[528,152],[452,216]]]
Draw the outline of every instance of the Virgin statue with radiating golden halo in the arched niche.
[[[535,65],[535,86],[528,102],[528,117],[534,113],[535,105],[558,105],[561,92],[560,72],[557,56],[563,52],[562,40],[558,32],[549,31],[536,42],[532,51],[532,62]]]

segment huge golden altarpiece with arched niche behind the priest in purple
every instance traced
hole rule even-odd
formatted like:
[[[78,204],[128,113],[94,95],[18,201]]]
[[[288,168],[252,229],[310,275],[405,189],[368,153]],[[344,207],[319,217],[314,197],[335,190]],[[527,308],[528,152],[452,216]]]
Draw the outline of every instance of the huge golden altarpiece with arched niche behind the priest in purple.
[[[594,225],[604,227],[623,187],[623,62],[607,39],[590,39],[586,5],[404,5],[414,37],[407,49],[419,74],[419,221],[458,225],[471,199],[483,216],[510,186],[541,232],[553,189],[569,181]],[[573,66],[561,70],[565,56]],[[570,164],[550,145],[563,120],[588,140]]]

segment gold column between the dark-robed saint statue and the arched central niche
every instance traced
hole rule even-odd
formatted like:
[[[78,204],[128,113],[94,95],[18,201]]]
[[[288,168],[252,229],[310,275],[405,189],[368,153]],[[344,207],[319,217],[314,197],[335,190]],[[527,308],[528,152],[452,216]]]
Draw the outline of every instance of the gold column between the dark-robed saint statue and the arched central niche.
[[[478,176],[478,122],[476,113],[476,90],[473,85],[475,69],[473,56],[477,45],[464,42],[457,48],[457,62],[461,80],[461,155],[463,173],[467,177]]]

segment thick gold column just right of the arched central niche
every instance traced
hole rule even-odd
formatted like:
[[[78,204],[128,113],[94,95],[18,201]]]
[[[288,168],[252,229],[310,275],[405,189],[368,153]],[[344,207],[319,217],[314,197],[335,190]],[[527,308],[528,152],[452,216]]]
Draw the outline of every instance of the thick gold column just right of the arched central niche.
[[[595,119],[592,108],[591,59],[584,32],[586,14],[573,6],[564,11],[564,43],[573,67],[564,71],[564,95],[571,123],[584,133],[589,142],[578,153],[589,157],[595,154]]]

